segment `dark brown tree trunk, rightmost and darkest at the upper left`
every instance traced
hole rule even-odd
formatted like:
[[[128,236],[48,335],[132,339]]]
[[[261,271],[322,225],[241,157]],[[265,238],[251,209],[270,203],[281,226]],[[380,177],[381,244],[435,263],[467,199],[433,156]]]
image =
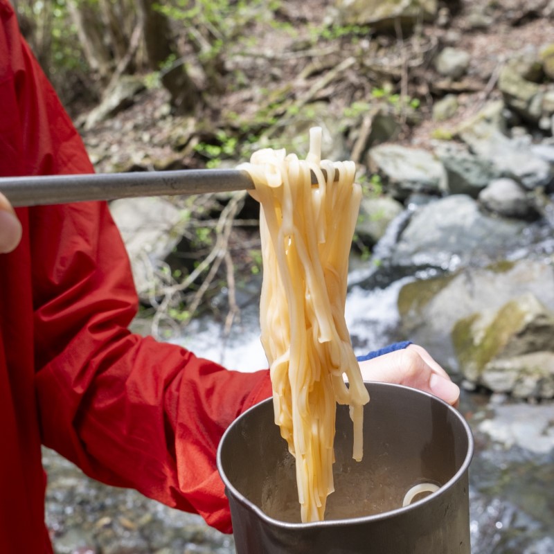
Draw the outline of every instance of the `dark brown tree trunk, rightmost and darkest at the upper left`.
[[[186,65],[179,59],[168,18],[154,8],[157,2],[158,0],[138,2],[143,17],[148,62],[153,71],[161,71],[161,82],[168,89],[172,105],[179,114],[193,114],[201,100],[200,91],[188,75]],[[175,64],[164,68],[163,65],[172,57],[175,57]]]

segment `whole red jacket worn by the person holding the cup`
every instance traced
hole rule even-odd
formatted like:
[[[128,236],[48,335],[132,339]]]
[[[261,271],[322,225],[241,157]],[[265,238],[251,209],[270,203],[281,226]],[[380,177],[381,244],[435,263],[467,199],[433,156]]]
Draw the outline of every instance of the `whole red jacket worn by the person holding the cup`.
[[[0,0],[0,176],[91,172],[78,133]],[[0,553],[51,553],[41,444],[89,476],[231,531],[217,443],[271,395],[269,372],[225,370],[127,330],[137,298],[101,202],[20,208],[0,255]]]

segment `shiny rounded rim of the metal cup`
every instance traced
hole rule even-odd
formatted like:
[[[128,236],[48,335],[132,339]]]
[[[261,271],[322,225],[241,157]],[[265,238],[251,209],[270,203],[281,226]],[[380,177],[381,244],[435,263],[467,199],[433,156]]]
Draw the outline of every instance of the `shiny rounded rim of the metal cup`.
[[[436,499],[437,497],[440,497],[441,494],[445,494],[445,492],[447,492],[447,490],[452,488],[452,486],[461,479],[463,474],[467,472],[467,470],[470,467],[470,463],[472,461],[473,454],[474,454],[474,438],[473,438],[472,430],[470,428],[470,425],[463,417],[463,415],[460,413],[458,409],[454,408],[454,406],[451,406],[450,404],[448,404],[438,396],[435,396],[431,393],[427,393],[426,391],[421,391],[419,388],[413,388],[411,386],[400,385],[395,383],[384,383],[379,381],[364,381],[364,384],[366,384],[366,386],[370,385],[372,388],[375,386],[383,387],[383,388],[388,388],[388,387],[400,388],[400,389],[409,391],[410,394],[420,394],[420,395],[427,396],[431,399],[431,401],[438,402],[439,404],[443,404],[444,406],[446,406],[448,411],[452,413],[452,415],[454,415],[461,422],[462,427],[465,431],[465,436],[467,437],[467,452],[466,452],[465,458],[463,460],[463,463],[460,465],[459,469],[456,471],[456,473],[444,485],[440,486],[440,488],[436,490],[436,492],[432,492],[431,494],[428,494],[427,497],[417,500],[415,502],[412,502],[411,504],[409,504],[409,506],[400,506],[400,508],[395,508],[394,510],[387,510],[386,512],[379,512],[378,514],[364,515],[364,516],[358,516],[358,517],[348,517],[344,519],[324,519],[323,521],[294,523],[292,521],[282,521],[280,519],[275,519],[274,517],[267,515],[258,505],[256,505],[255,503],[247,499],[247,497],[245,497],[244,494],[242,494],[242,492],[240,492],[237,488],[235,488],[235,486],[231,483],[231,481],[229,481],[229,478],[226,476],[223,470],[223,464],[222,464],[221,458],[222,458],[222,448],[224,445],[224,441],[228,436],[228,434],[232,432],[233,427],[235,427],[235,425],[238,425],[238,422],[240,422],[240,420],[242,420],[243,418],[246,418],[251,411],[255,409],[260,409],[260,405],[267,404],[269,402],[272,403],[273,399],[271,397],[266,398],[265,400],[262,400],[257,404],[254,404],[249,409],[241,413],[238,416],[238,418],[235,418],[235,420],[233,420],[231,425],[227,427],[224,434],[222,435],[220,443],[217,446],[216,465],[217,465],[217,471],[219,472],[220,478],[222,479],[225,485],[226,491],[230,490],[233,495],[233,499],[240,502],[244,507],[249,508],[250,510],[255,512],[256,515],[260,519],[265,521],[266,524],[287,529],[287,530],[307,530],[307,529],[318,529],[318,528],[325,528],[325,527],[352,526],[352,525],[358,525],[358,524],[366,524],[370,521],[389,519],[391,517],[396,517],[398,515],[406,514],[411,510],[415,510],[418,508],[418,506],[421,506],[422,503],[427,503],[431,500]]]

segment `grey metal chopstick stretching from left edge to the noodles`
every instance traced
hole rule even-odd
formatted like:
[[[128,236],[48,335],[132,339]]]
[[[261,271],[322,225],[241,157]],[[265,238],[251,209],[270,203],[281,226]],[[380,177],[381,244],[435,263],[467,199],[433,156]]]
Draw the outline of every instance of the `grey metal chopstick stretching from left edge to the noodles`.
[[[244,170],[179,170],[40,177],[0,177],[12,206],[64,204],[139,196],[196,195],[253,189]]]

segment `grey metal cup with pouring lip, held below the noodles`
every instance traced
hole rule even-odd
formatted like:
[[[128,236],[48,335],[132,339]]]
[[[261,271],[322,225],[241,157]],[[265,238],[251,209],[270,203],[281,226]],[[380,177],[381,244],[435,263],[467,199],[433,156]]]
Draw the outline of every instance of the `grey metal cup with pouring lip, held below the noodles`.
[[[338,406],[334,488],[325,521],[302,524],[294,458],[265,400],[225,432],[217,468],[238,554],[469,554],[470,427],[437,397],[366,383],[364,458],[352,459],[352,421]],[[402,507],[418,483],[439,489]]]

